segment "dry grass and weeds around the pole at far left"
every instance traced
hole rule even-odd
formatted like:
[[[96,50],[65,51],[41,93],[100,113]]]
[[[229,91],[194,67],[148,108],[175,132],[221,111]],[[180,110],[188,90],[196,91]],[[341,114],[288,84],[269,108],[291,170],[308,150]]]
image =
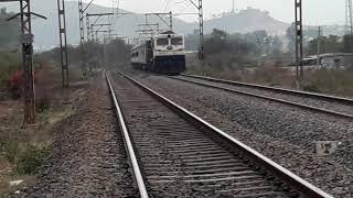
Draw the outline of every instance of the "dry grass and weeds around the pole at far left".
[[[35,182],[36,172],[50,156],[52,129],[74,113],[72,100],[84,91],[76,88],[63,90],[57,68],[42,72],[45,78],[36,81],[38,97],[46,97],[49,103],[38,109],[35,125],[22,127],[21,100],[0,101],[0,197],[21,187],[11,187],[11,180],[24,180],[25,186]]]

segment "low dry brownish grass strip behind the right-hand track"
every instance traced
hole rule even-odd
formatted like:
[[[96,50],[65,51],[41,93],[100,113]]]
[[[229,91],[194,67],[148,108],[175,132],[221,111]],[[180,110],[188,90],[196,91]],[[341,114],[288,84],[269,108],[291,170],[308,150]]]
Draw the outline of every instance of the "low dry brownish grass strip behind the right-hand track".
[[[212,56],[202,65],[194,56],[188,58],[188,74],[204,75],[267,86],[280,86],[296,89],[295,74],[276,66],[240,67],[236,62],[229,62],[229,57]],[[228,61],[227,61],[228,59]],[[254,65],[254,64],[253,64]],[[246,63],[245,65],[246,66]],[[335,70],[319,69],[308,70],[304,74],[302,89],[307,91],[322,92],[343,97],[353,97],[353,69]]]

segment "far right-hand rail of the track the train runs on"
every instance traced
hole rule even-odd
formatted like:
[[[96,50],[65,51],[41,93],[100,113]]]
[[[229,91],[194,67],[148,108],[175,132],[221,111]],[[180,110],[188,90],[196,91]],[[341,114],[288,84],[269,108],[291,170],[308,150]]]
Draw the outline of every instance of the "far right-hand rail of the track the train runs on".
[[[232,81],[232,80],[226,80],[226,79],[204,77],[204,76],[197,76],[197,75],[181,75],[181,76],[196,78],[196,79],[203,79],[203,80],[208,80],[208,81],[215,81],[215,82],[223,82],[223,84],[233,85],[233,86],[250,87],[250,88],[276,91],[276,92],[281,92],[281,94],[303,96],[303,97],[308,97],[308,98],[317,98],[317,99],[321,99],[321,100],[334,101],[334,102],[340,102],[340,103],[353,106],[353,99],[351,99],[351,98],[336,97],[336,96],[322,95],[322,94],[308,92],[308,91],[300,91],[300,90],[293,90],[293,89],[286,89],[286,88],[280,88],[280,87],[263,86],[263,85],[257,85],[257,84],[247,84],[247,82],[242,82],[242,81]]]

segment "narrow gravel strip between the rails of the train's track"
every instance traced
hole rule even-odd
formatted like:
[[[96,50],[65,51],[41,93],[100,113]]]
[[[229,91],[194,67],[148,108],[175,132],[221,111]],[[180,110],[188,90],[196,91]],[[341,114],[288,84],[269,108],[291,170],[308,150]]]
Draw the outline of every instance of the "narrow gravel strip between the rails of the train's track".
[[[186,79],[191,81],[196,81],[196,82],[202,82],[202,84],[207,84],[207,85],[213,85],[213,86],[220,86],[223,88],[229,88],[234,89],[237,91],[246,91],[255,95],[260,95],[260,96],[266,96],[266,97],[271,97],[271,98],[278,98],[296,103],[302,103],[307,106],[312,106],[315,108],[322,108],[331,111],[336,111],[341,113],[346,113],[346,114],[353,114],[353,106],[340,103],[340,102],[333,102],[333,101],[324,101],[320,99],[314,99],[310,97],[303,97],[303,96],[296,96],[296,95],[289,95],[289,94],[280,94],[276,91],[269,91],[269,90],[263,90],[263,89],[257,89],[257,88],[250,88],[250,87],[242,87],[242,86],[235,86],[235,85],[228,85],[228,84],[223,84],[223,82],[215,82],[215,81],[210,81],[210,80],[203,80],[203,79],[196,79],[196,78],[191,78],[191,77],[185,77],[185,76],[179,76],[178,78],[180,79]]]

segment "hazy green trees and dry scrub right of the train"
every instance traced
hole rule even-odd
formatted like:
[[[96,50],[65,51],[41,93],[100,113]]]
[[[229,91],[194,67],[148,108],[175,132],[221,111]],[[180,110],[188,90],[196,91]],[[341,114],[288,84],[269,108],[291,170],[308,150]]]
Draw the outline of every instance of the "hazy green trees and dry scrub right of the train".
[[[287,34],[287,37],[290,38],[290,29]],[[279,40],[268,36],[263,31],[242,35],[227,34],[215,29],[205,40],[206,59],[202,64],[196,57],[189,56],[188,73],[296,89],[295,72],[284,67],[292,64],[292,48],[285,53],[284,45],[279,41],[275,42],[276,45],[269,45],[266,42],[256,43],[256,37],[259,38],[258,41]],[[342,42],[333,36],[322,40],[325,53],[351,53],[349,50],[352,42],[351,36],[343,36]],[[308,52],[314,52],[314,42],[315,40],[310,43]],[[347,58],[346,62],[345,69],[304,70],[301,88],[306,91],[353,97],[353,61]]]

